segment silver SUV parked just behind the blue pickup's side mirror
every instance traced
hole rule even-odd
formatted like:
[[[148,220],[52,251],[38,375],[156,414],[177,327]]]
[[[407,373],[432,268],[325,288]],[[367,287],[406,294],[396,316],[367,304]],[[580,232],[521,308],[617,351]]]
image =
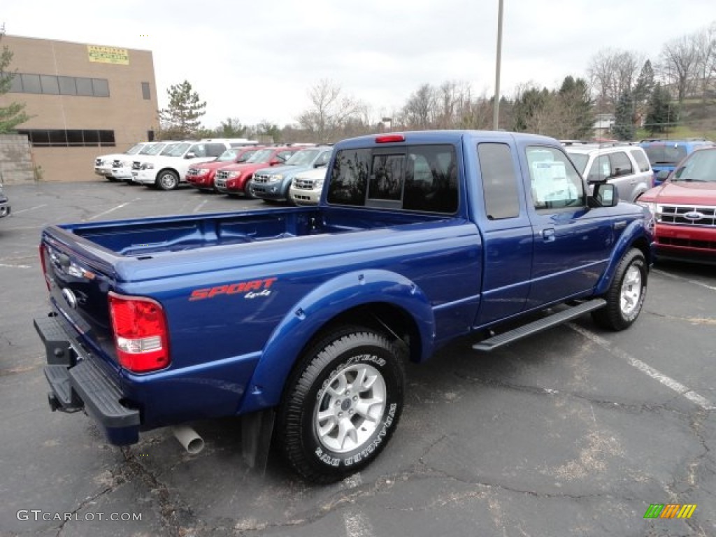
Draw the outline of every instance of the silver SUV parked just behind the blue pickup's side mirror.
[[[654,186],[654,170],[639,145],[574,141],[562,145],[588,183],[613,183],[620,200],[634,202]]]

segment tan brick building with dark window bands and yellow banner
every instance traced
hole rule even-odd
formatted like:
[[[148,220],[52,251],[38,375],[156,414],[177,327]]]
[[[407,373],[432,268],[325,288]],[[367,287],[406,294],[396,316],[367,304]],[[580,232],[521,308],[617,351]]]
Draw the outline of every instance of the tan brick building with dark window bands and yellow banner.
[[[45,181],[96,180],[97,155],[152,138],[157,90],[152,52],[6,35],[16,72],[0,106],[24,102],[16,127]]]

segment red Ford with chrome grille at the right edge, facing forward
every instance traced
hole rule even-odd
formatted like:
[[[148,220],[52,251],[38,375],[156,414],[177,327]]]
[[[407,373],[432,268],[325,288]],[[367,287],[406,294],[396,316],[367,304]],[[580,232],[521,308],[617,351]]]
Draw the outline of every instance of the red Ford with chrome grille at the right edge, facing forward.
[[[637,203],[654,214],[657,258],[716,264],[716,147],[690,153]]]

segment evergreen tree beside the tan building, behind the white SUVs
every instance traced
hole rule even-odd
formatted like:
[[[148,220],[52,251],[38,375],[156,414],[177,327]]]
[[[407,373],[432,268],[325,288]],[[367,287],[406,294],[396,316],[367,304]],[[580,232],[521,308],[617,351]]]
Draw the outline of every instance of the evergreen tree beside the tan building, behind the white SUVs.
[[[199,100],[185,80],[167,89],[169,105],[159,111],[160,137],[183,140],[194,137],[201,129],[200,117],[205,114],[206,102]]]

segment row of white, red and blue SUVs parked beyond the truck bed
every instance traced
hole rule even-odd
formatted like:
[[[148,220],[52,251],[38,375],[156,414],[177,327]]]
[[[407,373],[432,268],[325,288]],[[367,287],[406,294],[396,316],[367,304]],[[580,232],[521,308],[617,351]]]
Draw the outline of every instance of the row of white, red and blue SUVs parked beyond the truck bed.
[[[127,153],[98,157],[95,173],[110,181],[162,190],[186,183],[207,192],[305,205],[318,203],[332,152],[330,145],[314,144],[266,147],[233,146],[229,140],[144,142]],[[304,176],[304,172],[311,173]],[[291,195],[295,178],[300,186],[293,189],[296,195]]]

